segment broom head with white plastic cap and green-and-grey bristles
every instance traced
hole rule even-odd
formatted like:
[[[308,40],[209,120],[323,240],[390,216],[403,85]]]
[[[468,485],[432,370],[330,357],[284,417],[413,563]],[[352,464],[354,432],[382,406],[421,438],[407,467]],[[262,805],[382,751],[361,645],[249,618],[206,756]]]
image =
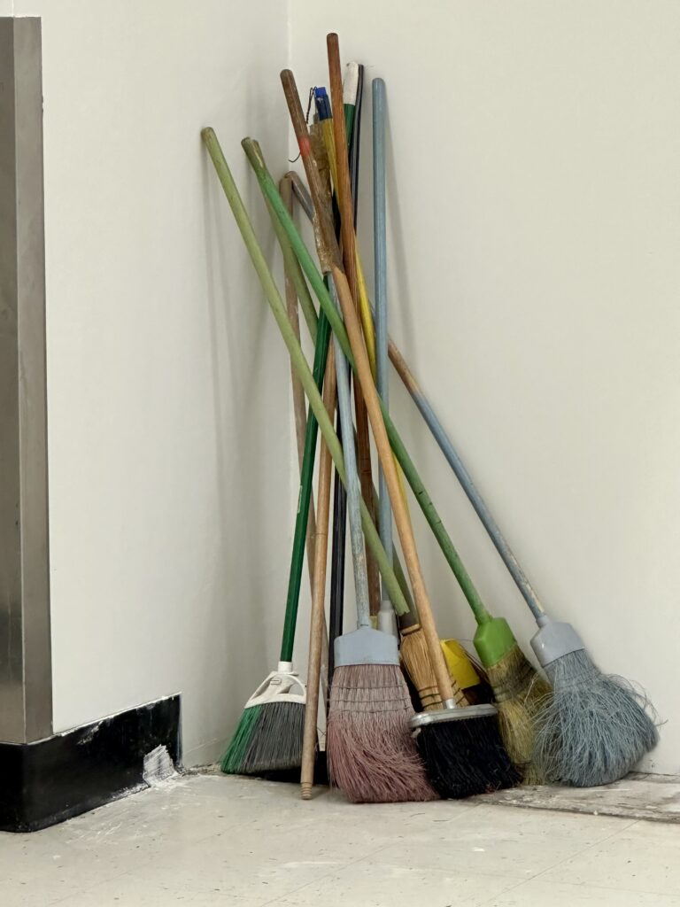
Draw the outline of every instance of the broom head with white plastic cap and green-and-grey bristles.
[[[302,762],[306,688],[289,661],[248,699],[222,758],[228,775],[264,775],[297,768]]]

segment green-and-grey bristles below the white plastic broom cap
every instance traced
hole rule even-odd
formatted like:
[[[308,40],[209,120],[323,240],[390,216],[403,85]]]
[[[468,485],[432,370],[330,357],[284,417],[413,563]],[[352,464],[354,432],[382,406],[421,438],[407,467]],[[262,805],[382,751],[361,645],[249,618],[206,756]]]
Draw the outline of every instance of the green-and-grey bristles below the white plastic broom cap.
[[[298,768],[304,728],[305,706],[299,702],[268,702],[244,709],[222,759],[222,771],[263,775]]]

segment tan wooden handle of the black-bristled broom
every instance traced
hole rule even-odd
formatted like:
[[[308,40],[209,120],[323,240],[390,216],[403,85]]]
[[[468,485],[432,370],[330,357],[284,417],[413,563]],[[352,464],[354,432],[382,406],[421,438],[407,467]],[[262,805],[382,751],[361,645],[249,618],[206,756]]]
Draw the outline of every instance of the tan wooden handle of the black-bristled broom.
[[[371,364],[368,361],[368,354],[364,347],[361,326],[359,325],[359,319],[355,312],[352,294],[350,293],[347,284],[347,278],[345,278],[345,274],[341,268],[338,268],[336,265],[333,268],[333,279],[335,280],[335,288],[337,289],[340,306],[343,310],[343,317],[345,318],[347,336],[349,337],[349,343],[355,356],[356,374],[359,378],[359,384],[364,391],[368,418],[370,419],[371,427],[373,428],[375,447],[378,451],[378,457],[383,467],[385,482],[387,483],[387,490],[390,494],[394,522],[396,523],[397,532],[399,532],[403,557],[406,561],[406,568],[409,571],[409,577],[413,587],[415,607],[418,609],[421,626],[423,627],[425,639],[427,640],[428,648],[430,649],[432,669],[434,670],[434,676],[437,678],[439,693],[442,697],[442,702],[447,704],[453,701],[451,678],[449,677],[449,671],[446,667],[446,661],[442,652],[437,628],[434,624],[432,605],[430,604],[430,598],[427,594],[427,589],[425,588],[423,570],[421,568],[420,559],[418,558],[418,550],[415,547],[411,522],[403,503],[399,487],[399,477],[394,466],[392,448],[390,447],[390,442],[384,427],[383,414],[380,411],[378,394],[373,383]]]

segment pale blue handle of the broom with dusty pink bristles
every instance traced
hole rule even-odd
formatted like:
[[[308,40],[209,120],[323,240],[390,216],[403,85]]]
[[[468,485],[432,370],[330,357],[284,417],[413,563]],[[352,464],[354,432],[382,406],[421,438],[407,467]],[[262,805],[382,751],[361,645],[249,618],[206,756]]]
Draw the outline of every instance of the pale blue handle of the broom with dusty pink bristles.
[[[329,278],[329,288],[335,307],[339,310],[335,283]],[[349,537],[352,548],[352,563],[355,571],[356,617],[360,627],[371,626],[371,611],[368,604],[368,574],[366,572],[366,554],[364,535],[361,528],[361,485],[356,467],[355,428],[352,422],[352,405],[349,394],[349,375],[347,360],[337,336],[335,344],[335,373],[337,375],[337,405],[340,410],[340,424],[343,429],[343,453],[345,454],[345,473],[347,488],[347,511],[349,513]]]

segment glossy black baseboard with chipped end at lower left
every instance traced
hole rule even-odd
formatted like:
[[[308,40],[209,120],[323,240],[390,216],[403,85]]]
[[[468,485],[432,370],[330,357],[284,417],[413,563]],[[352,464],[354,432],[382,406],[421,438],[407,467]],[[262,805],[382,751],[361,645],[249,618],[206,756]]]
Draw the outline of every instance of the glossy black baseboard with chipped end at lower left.
[[[0,743],[0,831],[34,832],[139,789],[157,746],[179,764],[179,696],[37,743]]]

